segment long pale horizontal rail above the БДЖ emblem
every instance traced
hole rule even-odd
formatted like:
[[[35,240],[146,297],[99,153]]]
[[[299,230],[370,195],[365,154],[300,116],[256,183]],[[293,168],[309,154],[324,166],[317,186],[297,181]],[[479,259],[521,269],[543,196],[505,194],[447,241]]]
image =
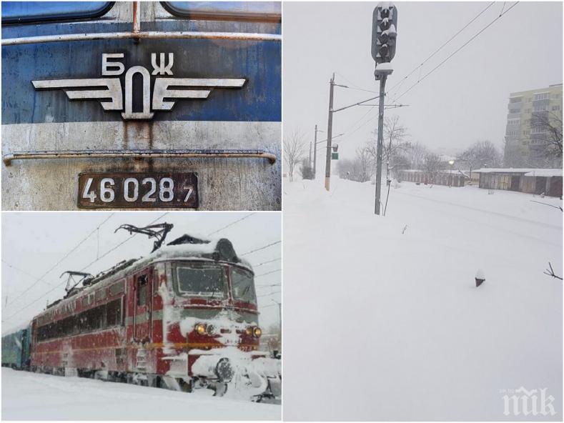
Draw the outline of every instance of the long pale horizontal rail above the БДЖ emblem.
[[[142,32],[101,32],[99,34],[63,34],[24,36],[2,40],[2,46],[20,44],[56,43],[59,41],[89,41],[103,39],[227,39],[239,41],[282,41],[279,34],[254,32],[205,32],[205,31],[142,31]]]

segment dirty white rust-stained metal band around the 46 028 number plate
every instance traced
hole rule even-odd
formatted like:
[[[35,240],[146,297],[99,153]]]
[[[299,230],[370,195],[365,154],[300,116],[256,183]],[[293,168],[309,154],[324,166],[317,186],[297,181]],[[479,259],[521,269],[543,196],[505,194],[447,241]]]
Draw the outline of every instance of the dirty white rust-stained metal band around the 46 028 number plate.
[[[64,99],[64,101],[67,101]],[[2,151],[264,149],[277,157],[36,159],[2,164],[2,209],[76,210],[78,175],[88,172],[197,172],[199,210],[279,210],[279,122],[67,122],[2,125]],[[76,141],[69,141],[74,139]],[[180,141],[179,141],[180,140]]]

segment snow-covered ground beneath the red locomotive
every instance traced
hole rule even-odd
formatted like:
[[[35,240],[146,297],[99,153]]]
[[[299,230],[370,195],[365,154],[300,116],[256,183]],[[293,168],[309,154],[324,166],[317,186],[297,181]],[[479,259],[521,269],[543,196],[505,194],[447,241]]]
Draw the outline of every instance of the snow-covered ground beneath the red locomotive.
[[[279,420],[275,404],[234,401],[2,367],[2,420]]]

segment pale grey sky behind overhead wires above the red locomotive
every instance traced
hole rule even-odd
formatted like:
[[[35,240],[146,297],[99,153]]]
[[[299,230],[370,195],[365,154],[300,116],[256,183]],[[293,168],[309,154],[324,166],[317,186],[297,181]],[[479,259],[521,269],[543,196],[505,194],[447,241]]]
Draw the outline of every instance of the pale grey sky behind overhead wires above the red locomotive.
[[[145,226],[162,214],[163,212],[117,212],[102,224],[110,213],[2,213],[2,332],[29,322],[34,315],[44,309],[48,299],[49,302],[53,302],[63,297],[66,279],[59,279],[61,273],[66,270],[81,270],[87,264],[94,262],[97,257],[101,257],[117,244],[128,239],[130,235],[127,231],[120,230],[114,234],[114,230],[120,224]],[[167,237],[168,241],[172,241],[182,234],[199,234],[205,237],[247,215],[249,213],[170,212],[156,223],[174,224],[172,232]],[[102,226],[99,231],[95,231],[100,224]],[[254,213],[241,222],[213,234],[212,237],[228,238],[233,243],[235,252],[244,254],[279,241],[280,229],[280,213],[262,212]],[[91,237],[42,278],[43,282],[37,282],[37,278],[93,231],[95,232]],[[149,254],[152,245],[152,239],[149,240],[146,236],[138,234],[106,257],[91,264],[84,272],[96,274],[124,259]],[[280,302],[281,295],[279,286],[262,288],[261,286],[279,284],[281,272],[273,272],[262,277],[258,275],[280,269],[281,262],[256,266],[277,259],[281,257],[280,254],[281,244],[276,244],[259,252],[244,255],[244,258],[253,265],[257,275],[255,282],[261,312],[259,322],[262,327],[278,323],[278,307],[272,299]],[[31,289],[26,291],[29,287]],[[53,292],[46,294],[51,289],[54,289]],[[26,292],[21,295],[24,291]],[[269,294],[271,292],[276,294]],[[7,305],[4,307],[6,297]]]

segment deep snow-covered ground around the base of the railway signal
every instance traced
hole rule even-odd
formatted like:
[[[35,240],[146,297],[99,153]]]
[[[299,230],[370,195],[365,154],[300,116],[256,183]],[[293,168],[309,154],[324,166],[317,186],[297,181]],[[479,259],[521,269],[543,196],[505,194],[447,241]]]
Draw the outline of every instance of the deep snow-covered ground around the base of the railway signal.
[[[370,183],[284,191],[285,420],[562,420],[562,281],[543,271],[563,273],[563,214],[531,200],[562,201],[403,182],[376,217]],[[520,387],[556,414],[505,416]]]

